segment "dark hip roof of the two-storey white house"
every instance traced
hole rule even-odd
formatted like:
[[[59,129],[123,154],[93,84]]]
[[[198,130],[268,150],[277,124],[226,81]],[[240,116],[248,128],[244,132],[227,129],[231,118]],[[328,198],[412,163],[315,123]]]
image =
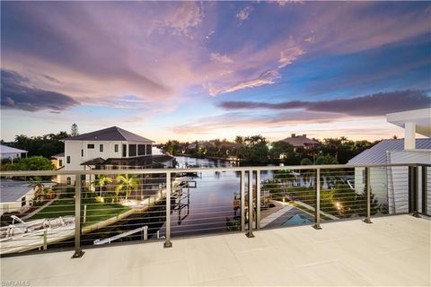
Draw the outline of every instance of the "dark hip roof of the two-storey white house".
[[[99,131],[67,137],[64,141],[131,141],[131,142],[144,142],[154,143],[143,136],[136,135],[128,132],[118,126],[111,126]]]

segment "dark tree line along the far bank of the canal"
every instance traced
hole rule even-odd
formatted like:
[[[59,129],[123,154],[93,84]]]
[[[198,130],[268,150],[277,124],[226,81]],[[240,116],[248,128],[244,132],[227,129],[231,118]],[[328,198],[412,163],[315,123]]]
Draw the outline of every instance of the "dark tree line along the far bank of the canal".
[[[170,140],[163,143],[163,152],[172,155],[189,155],[196,158],[234,159],[249,164],[311,165],[311,164],[345,164],[360,152],[374,144],[369,141],[352,141],[346,137],[325,138],[316,140],[318,146],[294,148],[284,141],[268,142],[262,135],[236,136],[233,142],[226,139],[212,141],[195,141],[180,143]]]

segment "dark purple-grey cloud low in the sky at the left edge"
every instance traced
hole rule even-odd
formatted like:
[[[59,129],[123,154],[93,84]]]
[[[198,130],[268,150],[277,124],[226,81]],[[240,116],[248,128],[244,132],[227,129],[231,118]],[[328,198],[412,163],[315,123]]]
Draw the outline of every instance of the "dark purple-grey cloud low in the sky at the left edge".
[[[1,80],[2,109],[22,109],[31,112],[51,109],[57,113],[79,104],[65,94],[32,87],[28,78],[14,71],[2,69]]]

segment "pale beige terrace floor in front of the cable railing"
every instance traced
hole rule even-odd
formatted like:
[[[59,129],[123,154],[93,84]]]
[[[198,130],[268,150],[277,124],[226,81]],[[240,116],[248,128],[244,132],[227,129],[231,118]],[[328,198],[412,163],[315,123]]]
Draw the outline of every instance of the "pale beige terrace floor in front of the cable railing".
[[[1,259],[37,285],[430,286],[431,221],[410,215]]]

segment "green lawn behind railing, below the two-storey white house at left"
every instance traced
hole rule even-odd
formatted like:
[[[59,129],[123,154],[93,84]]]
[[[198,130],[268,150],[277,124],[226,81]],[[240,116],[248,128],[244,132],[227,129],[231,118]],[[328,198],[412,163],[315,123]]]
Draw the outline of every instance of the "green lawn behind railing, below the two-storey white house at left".
[[[84,226],[92,225],[116,216],[120,213],[127,212],[130,208],[121,204],[97,203],[94,198],[84,198],[82,201],[82,210],[87,205],[86,222]],[[60,198],[45,207],[30,218],[30,220],[41,218],[55,218],[58,216],[75,215],[75,199]]]

